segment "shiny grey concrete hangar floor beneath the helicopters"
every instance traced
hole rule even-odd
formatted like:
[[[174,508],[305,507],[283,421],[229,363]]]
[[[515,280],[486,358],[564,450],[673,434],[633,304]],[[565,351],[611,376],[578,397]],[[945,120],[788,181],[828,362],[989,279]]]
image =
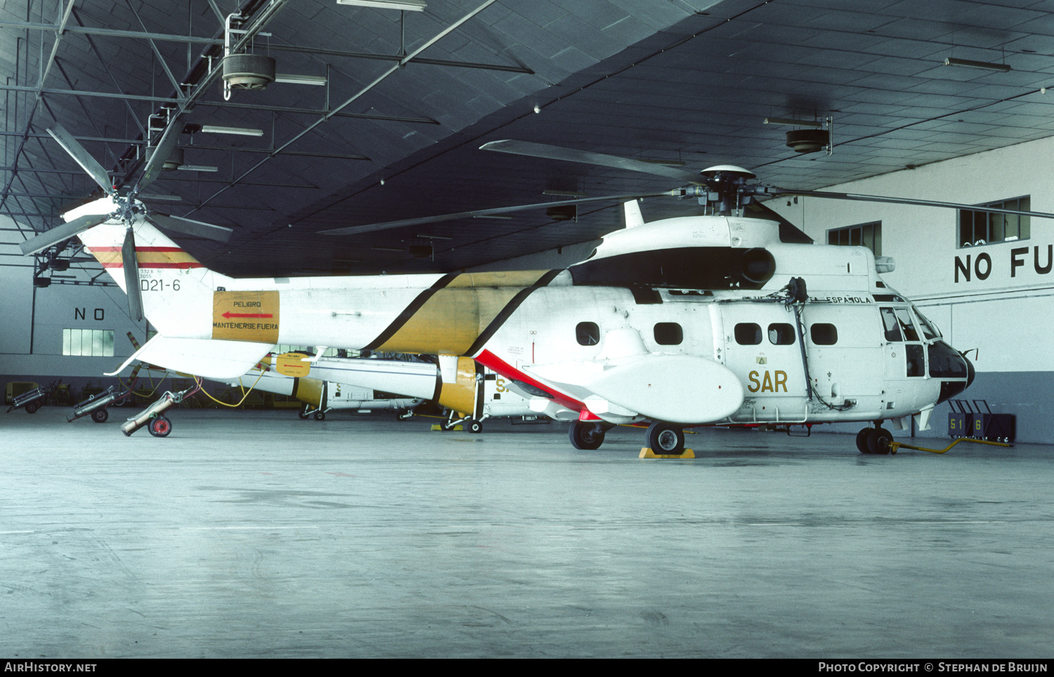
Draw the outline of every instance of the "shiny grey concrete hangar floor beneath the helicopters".
[[[0,412],[0,656],[1050,655],[1052,447],[112,412]]]

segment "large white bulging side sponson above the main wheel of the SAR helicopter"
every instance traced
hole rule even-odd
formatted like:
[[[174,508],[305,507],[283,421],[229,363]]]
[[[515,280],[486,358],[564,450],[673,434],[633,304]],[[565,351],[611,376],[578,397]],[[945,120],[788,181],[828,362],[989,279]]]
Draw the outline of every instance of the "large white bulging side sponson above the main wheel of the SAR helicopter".
[[[587,405],[602,401],[604,412],[636,411],[670,423],[722,421],[743,404],[743,386],[730,369],[691,355],[646,353],[524,366],[524,371],[564,386]]]

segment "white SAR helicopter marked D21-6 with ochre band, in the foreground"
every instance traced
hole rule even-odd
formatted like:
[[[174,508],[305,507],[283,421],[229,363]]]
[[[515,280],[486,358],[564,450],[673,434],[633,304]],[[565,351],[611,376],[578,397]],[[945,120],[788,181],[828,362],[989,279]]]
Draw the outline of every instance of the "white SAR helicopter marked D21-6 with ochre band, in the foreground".
[[[483,148],[690,185],[329,232],[659,195],[698,197],[711,215],[645,224],[629,201],[628,228],[565,270],[235,279],[208,270],[151,225],[158,218],[135,200],[140,180],[126,196],[113,192],[64,214],[66,226],[22,249],[34,253],[80,237],[158,330],[126,364],[143,360],[230,379],[278,343],[473,357],[507,379],[533,410],[571,422],[569,437],[580,449],[598,448],[607,429],[625,423],[649,423],[646,446],[679,454],[687,426],[859,421],[875,426],[860,430],[858,448],[883,453],[892,441],[883,421],[903,426],[915,415],[925,429],[934,406],[973,381],[972,365],[882,281],[880,269],[892,262],[876,262],[865,248],[811,244],[755,198],[969,206],[777,189],[730,166],[696,175],[536,143]],[[85,157],[94,162],[83,149],[73,154],[82,166]],[[752,210],[763,217],[744,215]]]

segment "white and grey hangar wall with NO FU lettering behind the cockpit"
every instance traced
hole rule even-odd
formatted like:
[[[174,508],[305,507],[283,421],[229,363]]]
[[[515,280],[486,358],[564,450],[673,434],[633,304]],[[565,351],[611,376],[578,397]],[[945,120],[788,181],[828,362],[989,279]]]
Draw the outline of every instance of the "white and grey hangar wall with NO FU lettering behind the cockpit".
[[[824,190],[968,205],[1029,195],[1032,211],[1054,212],[1052,156],[1054,138],[1046,138]],[[837,158],[836,147],[831,158],[816,161]],[[881,253],[897,263],[883,278],[915,302],[956,349],[976,349],[970,357],[977,379],[960,396],[1016,414],[1020,442],[1054,442],[1054,352],[1049,349],[1054,220],[1031,219],[1028,239],[963,248],[958,212],[952,209],[815,197],[789,206],[786,199],[768,204],[820,243],[827,241],[828,229],[881,221]],[[932,430],[917,434],[945,434],[949,410],[948,404],[938,407]]]

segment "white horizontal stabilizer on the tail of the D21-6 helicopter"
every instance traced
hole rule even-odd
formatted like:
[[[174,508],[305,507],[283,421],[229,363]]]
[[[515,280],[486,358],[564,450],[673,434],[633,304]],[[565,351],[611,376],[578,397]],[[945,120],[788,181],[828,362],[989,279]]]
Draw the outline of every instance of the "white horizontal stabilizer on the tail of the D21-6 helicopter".
[[[226,381],[237,379],[256,366],[273,346],[268,343],[213,341],[209,338],[175,338],[157,334],[128,359],[120,373],[135,362],[149,362],[172,371],[181,371],[206,379]]]

